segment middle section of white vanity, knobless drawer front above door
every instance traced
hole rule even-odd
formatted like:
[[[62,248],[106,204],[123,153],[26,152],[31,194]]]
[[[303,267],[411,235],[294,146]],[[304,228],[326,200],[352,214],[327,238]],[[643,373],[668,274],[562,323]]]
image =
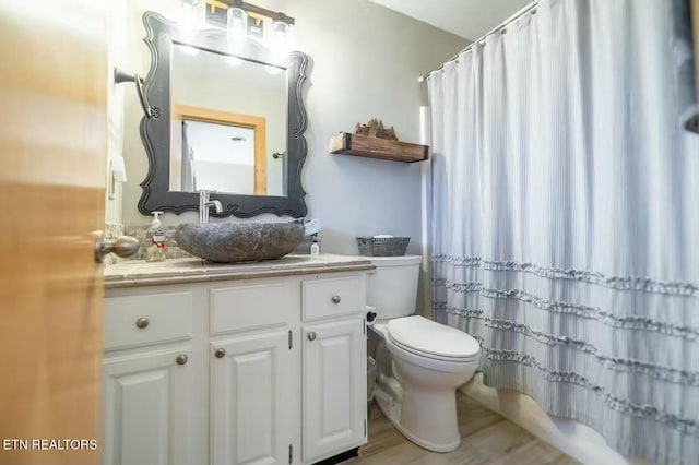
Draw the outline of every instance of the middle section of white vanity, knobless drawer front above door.
[[[293,344],[298,283],[218,284],[209,296],[211,463],[292,463],[299,441],[292,401],[301,380]]]

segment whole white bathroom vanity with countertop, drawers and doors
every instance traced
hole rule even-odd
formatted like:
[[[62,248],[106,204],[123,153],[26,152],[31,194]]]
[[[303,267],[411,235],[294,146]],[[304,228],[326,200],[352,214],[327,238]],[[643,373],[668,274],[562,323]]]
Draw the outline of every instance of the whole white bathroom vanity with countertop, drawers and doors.
[[[312,464],[367,440],[356,258],[105,271],[104,463]]]

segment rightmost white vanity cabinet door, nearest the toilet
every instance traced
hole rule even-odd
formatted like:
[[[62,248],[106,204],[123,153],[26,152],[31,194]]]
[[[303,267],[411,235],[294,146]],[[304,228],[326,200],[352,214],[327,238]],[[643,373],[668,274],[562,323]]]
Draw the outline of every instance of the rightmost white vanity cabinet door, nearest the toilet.
[[[364,319],[304,329],[304,461],[366,442]]]

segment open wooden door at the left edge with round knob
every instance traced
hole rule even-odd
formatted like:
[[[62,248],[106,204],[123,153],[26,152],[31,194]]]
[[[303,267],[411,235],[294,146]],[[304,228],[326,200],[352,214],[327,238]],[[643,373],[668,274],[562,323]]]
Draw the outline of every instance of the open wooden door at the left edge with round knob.
[[[0,0],[0,464],[99,460],[106,7]]]

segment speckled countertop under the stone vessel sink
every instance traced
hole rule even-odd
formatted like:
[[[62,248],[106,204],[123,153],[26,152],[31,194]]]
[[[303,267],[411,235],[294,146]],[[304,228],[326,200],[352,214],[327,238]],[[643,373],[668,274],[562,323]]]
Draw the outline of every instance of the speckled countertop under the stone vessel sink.
[[[331,254],[316,259],[310,255],[286,255],[279,260],[248,263],[211,263],[192,258],[164,262],[125,260],[105,269],[105,288],[368,270],[374,270],[368,258]]]

